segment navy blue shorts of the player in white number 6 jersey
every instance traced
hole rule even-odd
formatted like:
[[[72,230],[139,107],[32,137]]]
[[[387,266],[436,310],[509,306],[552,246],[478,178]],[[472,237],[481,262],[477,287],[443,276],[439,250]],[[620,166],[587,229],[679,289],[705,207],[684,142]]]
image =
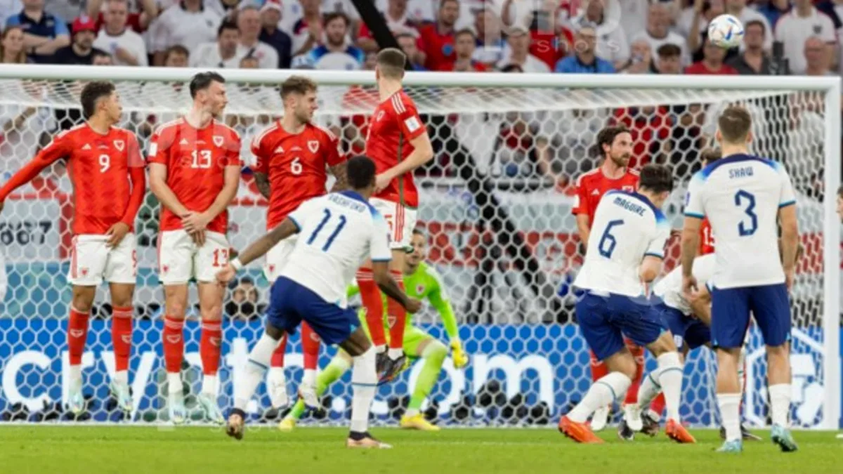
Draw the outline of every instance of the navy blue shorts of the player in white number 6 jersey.
[[[645,298],[587,292],[577,299],[576,310],[583,337],[598,360],[626,347],[624,335],[637,345],[646,346],[666,329],[658,311]]]

